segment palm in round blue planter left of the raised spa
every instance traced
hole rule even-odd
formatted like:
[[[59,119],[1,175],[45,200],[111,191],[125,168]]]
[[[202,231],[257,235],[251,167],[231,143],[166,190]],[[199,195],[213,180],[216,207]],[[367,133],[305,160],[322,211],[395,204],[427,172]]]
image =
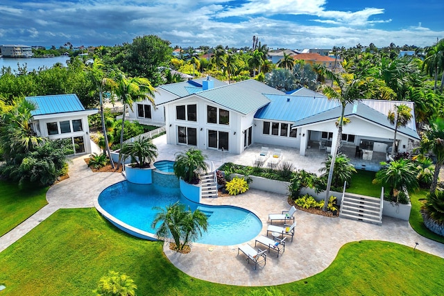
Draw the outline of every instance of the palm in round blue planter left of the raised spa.
[[[151,184],[151,162],[157,157],[157,147],[151,138],[139,137],[133,143],[126,143],[121,153],[123,162],[131,157],[131,163],[125,165],[126,180],[137,184]]]

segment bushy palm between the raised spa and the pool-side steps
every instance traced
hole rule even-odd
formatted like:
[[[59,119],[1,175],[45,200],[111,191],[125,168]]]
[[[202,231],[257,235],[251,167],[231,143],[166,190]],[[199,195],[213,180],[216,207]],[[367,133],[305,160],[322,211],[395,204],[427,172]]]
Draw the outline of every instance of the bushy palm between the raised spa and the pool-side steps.
[[[195,148],[178,152],[176,153],[176,162],[173,166],[174,174],[187,183],[197,184],[199,182],[199,173],[207,171],[206,158],[207,155],[203,155],[202,151]]]

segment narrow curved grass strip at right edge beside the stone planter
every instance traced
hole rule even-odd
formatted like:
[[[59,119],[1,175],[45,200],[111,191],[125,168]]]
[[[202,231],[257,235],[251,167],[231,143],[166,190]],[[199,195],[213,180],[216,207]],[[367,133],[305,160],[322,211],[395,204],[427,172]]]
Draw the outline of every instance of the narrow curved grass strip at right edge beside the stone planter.
[[[429,192],[429,189],[421,189],[420,191],[413,191],[409,193],[410,202],[411,202],[411,212],[409,222],[411,228],[415,229],[418,234],[430,238],[434,241],[438,241],[440,243],[444,243],[444,237],[440,236],[434,232],[431,232],[424,225],[424,220],[422,220],[422,216],[420,214],[420,209],[422,207],[422,202],[425,199],[425,195]]]

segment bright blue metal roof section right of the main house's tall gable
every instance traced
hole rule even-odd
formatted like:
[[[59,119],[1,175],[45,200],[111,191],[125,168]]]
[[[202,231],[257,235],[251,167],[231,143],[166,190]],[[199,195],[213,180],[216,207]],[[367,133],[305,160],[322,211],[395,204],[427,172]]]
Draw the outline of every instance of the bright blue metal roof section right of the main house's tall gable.
[[[271,103],[258,110],[255,119],[299,121],[314,114],[330,110],[339,103],[325,96],[295,96],[293,94],[266,94]]]

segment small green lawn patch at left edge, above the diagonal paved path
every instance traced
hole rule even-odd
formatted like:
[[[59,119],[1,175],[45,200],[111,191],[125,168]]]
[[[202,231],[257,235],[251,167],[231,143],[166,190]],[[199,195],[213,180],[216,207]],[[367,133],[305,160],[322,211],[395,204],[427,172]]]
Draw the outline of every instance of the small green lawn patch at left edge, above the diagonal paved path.
[[[0,181],[0,236],[42,209],[48,203],[48,189],[49,187],[21,190],[17,184]]]

